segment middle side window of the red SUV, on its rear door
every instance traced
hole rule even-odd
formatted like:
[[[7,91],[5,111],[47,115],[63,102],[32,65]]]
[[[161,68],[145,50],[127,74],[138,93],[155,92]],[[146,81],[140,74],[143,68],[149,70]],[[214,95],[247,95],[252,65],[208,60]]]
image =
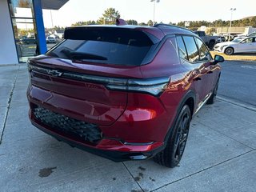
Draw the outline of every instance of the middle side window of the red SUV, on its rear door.
[[[187,55],[188,55],[188,61],[190,62],[198,62],[200,61],[200,57],[198,54],[198,47],[196,46],[194,42],[194,38],[190,36],[183,36],[185,45],[186,45],[186,50],[187,50]]]

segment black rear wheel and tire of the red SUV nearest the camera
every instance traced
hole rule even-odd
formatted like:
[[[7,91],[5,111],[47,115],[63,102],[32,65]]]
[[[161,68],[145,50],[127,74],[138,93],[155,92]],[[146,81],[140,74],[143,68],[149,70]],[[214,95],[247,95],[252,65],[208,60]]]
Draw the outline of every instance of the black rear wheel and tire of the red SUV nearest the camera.
[[[173,126],[166,148],[154,156],[154,162],[166,167],[177,166],[182,159],[190,130],[190,107],[185,105]]]

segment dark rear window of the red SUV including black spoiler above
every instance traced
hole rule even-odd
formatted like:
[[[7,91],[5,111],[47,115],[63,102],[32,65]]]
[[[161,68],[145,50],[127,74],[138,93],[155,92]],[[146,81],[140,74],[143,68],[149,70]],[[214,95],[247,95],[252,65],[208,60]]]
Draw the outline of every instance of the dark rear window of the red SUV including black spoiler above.
[[[154,45],[147,34],[121,28],[77,27],[47,55],[123,66],[139,66]]]

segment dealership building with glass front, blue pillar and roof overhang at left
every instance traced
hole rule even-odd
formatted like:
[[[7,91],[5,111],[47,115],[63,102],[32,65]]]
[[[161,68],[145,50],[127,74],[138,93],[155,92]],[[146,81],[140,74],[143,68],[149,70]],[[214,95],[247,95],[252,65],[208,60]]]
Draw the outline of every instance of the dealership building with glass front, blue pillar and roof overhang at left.
[[[0,0],[0,65],[26,62],[47,50],[42,9],[58,10],[68,0]]]

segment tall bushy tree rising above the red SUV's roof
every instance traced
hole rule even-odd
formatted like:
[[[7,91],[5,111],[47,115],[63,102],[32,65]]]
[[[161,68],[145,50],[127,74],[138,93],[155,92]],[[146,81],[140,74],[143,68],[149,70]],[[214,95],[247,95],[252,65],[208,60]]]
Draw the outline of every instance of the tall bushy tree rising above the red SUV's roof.
[[[106,24],[106,25],[113,25],[115,24],[116,18],[120,18],[120,14],[118,10],[114,8],[108,8],[102,14],[102,17],[98,19],[98,24]]]

